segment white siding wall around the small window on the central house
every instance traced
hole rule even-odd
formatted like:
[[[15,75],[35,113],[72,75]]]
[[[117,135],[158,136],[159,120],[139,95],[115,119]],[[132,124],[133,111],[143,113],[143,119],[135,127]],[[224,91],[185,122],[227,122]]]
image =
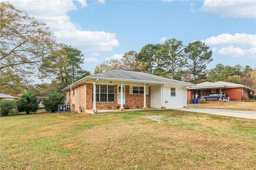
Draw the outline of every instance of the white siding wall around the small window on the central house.
[[[171,88],[175,88],[176,96],[171,96]],[[165,101],[168,101],[165,103]],[[164,106],[168,108],[183,108],[186,106],[184,87],[181,86],[164,86]]]

